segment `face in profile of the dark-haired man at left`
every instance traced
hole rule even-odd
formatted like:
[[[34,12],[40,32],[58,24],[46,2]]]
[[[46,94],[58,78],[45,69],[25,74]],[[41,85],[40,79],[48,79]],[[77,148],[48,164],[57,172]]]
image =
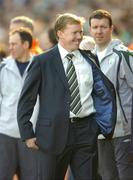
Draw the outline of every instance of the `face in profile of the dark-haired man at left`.
[[[22,43],[18,33],[9,36],[9,50],[14,59],[23,59],[25,54],[25,43]]]

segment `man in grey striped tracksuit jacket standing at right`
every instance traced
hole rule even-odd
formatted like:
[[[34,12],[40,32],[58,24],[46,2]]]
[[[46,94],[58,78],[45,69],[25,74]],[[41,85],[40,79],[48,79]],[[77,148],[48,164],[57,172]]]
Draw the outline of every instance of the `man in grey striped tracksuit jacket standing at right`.
[[[89,32],[96,43],[94,53],[100,68],[112,81],[117,93],[117,122],[112,140],[98,139],[99,170],[102,180],[133,180],[130,156],[133,73],[131,56],[119,39],[113,39],[111,14],[96,10],[89,17]]]

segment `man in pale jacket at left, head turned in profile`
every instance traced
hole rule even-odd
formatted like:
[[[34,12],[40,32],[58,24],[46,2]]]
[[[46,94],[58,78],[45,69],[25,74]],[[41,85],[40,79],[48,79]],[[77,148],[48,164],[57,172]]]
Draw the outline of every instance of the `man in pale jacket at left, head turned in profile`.
[[[17,105],[27,69],[32,61],[32,34],[19,28],[9,34],[10,56],[0,64],[0,179],[37,179],[36,150],[28,149],[20,139]],[[35,112],[35,111],[34,111]],[[37,109],[31,121],[34,126]]]

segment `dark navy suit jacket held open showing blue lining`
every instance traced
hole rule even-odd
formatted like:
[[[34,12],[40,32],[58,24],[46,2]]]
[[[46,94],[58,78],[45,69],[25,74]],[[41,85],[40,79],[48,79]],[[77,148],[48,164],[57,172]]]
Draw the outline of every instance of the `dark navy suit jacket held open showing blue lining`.
[[[116,122],[115,90],[90,54],[80,51],[92,66],[92,97],[101,133],[111,137]],[[37,95],[40,109],[34,133],[29,121]],[[18,104],[18,125],[23,140],[35,137],[44,151],[58,154],[64,149],[69,128],[70,93],[58,46],[34,58]]]

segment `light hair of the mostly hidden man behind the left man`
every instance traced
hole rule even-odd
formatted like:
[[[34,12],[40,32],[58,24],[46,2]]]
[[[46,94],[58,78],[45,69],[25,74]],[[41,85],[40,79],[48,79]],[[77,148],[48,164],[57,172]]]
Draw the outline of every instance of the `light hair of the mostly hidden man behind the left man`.
[[[29,28],[32,32],[34,30],[34,21],[27,16],[16,16],[11,19],[10,24],[22,24],[23,27]]]

